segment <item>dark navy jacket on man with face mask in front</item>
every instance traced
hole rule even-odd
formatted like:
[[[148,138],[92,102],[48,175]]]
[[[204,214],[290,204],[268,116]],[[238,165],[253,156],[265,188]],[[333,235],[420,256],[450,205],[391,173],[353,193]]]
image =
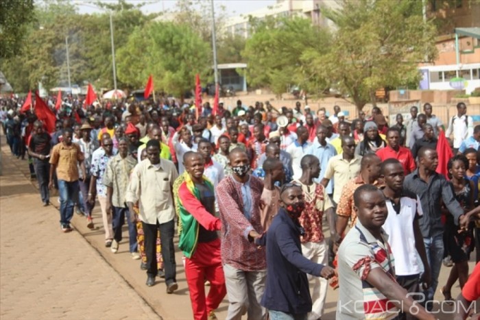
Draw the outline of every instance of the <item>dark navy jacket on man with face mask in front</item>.
[[[280,208],[266,234],[267,283],[261,305],[269,310],[302,314],[311,311],[307,274],[320,276],[322,264],[302,256],[302,227]],[[265,236],[263,241],[265,242]]]

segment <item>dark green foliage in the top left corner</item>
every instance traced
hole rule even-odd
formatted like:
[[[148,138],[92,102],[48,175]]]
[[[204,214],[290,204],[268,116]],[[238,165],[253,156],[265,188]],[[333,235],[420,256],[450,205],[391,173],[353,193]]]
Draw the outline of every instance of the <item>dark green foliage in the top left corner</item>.
[[[0,58],[10,58],[23,48],[23,38],[34,21],[34,0],[0,1]]]

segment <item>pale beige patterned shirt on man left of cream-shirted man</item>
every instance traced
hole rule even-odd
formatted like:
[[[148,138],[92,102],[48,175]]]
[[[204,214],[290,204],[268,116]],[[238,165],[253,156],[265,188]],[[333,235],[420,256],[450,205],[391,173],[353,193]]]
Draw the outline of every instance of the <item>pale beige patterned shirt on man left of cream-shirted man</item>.
[[[127,192],[130,173],[136,165],[131,156],[121,158],[119,154],[108,160],[103,184],[112,187],[112,206],[125,207],[125,193]]]

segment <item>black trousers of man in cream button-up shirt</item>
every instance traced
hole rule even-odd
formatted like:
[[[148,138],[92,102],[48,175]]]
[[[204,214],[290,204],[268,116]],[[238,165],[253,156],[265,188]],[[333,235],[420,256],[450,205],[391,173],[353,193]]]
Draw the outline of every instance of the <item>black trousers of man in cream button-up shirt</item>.
[[[156,263],[156,235],[160,230],[160,242],[162,243],[163,271],[165,271],[165,283],[167,286],[177,282],[177,264],[175,262],[175,247],[173,246],[173,235],[175,233],[175,222],[173,219],[166,223],[152,225],[142,221],[143,234],[145,237],[145,255],[147,256],[147,274],[156,276],[158,273]]]

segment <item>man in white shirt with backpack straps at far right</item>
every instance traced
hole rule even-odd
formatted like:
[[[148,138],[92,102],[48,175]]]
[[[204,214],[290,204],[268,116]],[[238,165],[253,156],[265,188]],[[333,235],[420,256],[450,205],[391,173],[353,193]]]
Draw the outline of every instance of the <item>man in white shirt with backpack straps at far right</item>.
[[[473,120],[467,115],[467,106],[463,102],[457,103],[457,114],[448,121],[448,129],[445,132],[446,138],[453,134],[453,153],[457,153],[461,142],[472,136]]]

